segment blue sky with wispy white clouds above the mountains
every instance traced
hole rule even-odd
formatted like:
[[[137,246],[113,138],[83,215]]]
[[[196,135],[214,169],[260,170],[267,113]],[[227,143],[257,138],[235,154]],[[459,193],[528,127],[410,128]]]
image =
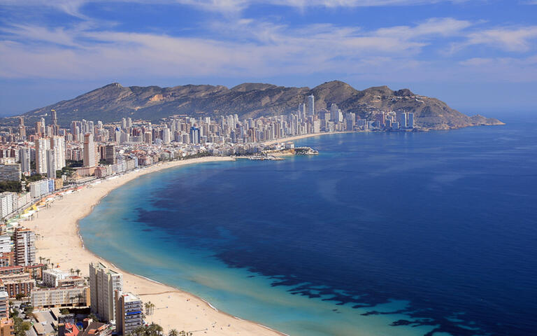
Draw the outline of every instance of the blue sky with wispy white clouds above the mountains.
[[[537,0],[0,0],[2,116],[114,82],[329,80],[537,112]]]

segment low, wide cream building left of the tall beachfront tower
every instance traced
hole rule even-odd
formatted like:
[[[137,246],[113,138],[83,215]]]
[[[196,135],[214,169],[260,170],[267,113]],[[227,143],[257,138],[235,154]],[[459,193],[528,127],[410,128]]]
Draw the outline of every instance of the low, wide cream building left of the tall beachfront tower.
[[[72,286],[59,288],[36,288],[31,291],[32,307],[86,307],[90,304],[90,288],[88,286]]]

